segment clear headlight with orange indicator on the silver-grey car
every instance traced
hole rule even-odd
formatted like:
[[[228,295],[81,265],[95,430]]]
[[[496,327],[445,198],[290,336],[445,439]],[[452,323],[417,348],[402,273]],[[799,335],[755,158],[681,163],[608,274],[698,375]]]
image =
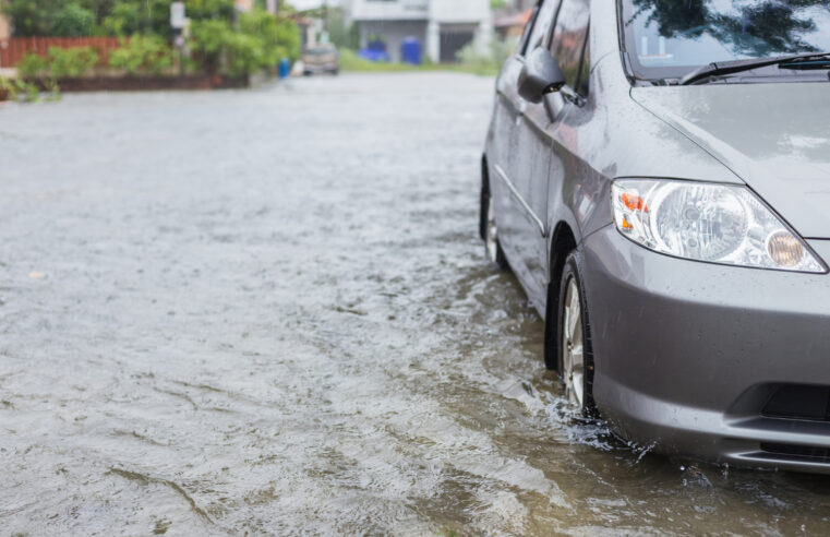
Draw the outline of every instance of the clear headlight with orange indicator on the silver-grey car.
[[[614,222],[651,250],[710,263],[825,273],[827,268],[749,189],[663,179],[618,179]]]

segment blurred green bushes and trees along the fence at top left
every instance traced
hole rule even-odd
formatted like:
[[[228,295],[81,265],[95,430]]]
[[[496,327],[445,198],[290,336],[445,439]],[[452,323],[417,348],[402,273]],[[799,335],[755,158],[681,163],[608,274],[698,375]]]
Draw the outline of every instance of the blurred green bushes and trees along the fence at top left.
[[[19,76],[31,87],[53,87],[77,77],[142,77],[209,75],[248,80],[274,71],[281,59],[300,57],[300,32],[281,7],[277,17],[264,1],[245,13],[233,0],[188,0],[190,26],[180,56],[170,27],[172,0],[0,0],[0,10],[14,21],[15,37],[117,37],[106,53],[95,47],[50,47],[29,52],[17,64]],[[8,87],[10,98],[22,92]],[[17,86],[15,86],[17,87]]]

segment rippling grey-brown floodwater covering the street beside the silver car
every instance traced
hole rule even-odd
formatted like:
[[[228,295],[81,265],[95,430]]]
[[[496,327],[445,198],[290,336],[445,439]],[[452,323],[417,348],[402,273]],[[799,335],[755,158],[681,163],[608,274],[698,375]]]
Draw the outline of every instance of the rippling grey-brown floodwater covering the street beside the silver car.
[[[477,236],[493,81],[0,109],[1,535],[817,535],[565,407]]]

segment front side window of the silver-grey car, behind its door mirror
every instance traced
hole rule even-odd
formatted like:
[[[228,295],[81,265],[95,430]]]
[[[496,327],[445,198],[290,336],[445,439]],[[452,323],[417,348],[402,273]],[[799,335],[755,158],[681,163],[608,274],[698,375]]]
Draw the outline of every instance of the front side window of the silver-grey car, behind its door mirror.
[[[578,87],[582,52],[587,49],[589,7],[589,0],[564,0],[551,40],[551,52],[573,90]],[[587,71],[586,68],[586,75]]]

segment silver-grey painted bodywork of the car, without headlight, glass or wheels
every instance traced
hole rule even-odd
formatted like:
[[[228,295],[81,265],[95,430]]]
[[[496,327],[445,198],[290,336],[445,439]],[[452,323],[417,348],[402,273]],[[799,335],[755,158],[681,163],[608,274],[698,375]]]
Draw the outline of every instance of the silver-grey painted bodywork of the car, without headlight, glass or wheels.
[[[830,240],[819,239],[830,236],[830,212],[817,212],[830,201],[827,86],[636,87],[615,13],[614,0],[591,2],[584,102],[562,93],[539,106],[524,102],[518,56],[497,80],[484,158],[507,260],[544,318],[548,287],[558,285],[552,246],[561,230],[573,234],[594,346],[593,396],[618,434],[662,453],[830,473],[830,418],[760,413],[775,383],[830,386],[830,275],[647,250],[616,230],[610,199],[618,178],[748,184],[829,262]],[[765,110],[765,100],[780,106]],[[823,109],[810,119],[814,107]],[[758,132],[743,135],[742,114],[753,115],[746,124]],[[828,450],[827,461],[770,453],[763,442]]]

